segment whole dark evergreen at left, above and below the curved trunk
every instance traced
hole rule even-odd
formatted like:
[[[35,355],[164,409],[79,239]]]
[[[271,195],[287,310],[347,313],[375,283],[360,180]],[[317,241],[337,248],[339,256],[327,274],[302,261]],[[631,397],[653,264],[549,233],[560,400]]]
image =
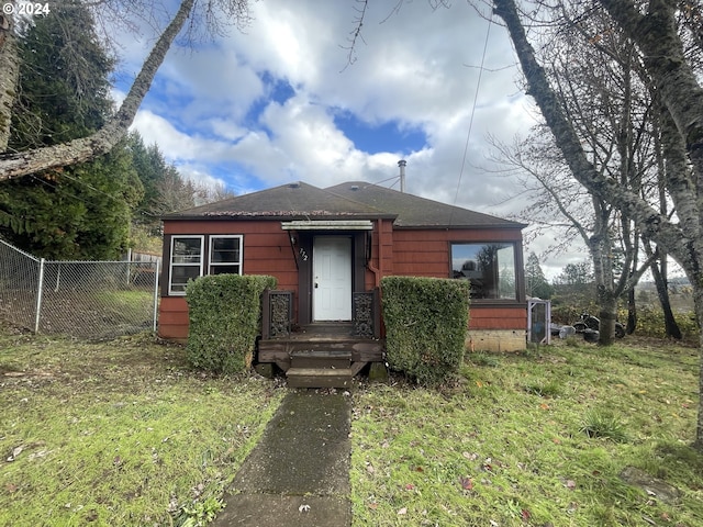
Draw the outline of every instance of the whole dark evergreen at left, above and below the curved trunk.
[[[109,119],[112,60],[92,27],[89,13],[71,2],[24,32],[14,148],[80,137]],[[0,235],[45,258],[118,258],[142,192],[122,144],[90,162],[0,182]]]

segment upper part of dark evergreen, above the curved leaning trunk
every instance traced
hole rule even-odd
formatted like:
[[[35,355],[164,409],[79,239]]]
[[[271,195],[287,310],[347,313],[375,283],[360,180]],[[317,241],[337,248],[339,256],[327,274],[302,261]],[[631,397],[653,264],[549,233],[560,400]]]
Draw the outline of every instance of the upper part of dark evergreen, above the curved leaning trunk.
[[[19,46],[11,150],[81,137],[102,127],[112,113],[109,75],[114,60],[100,45],[90,13],[68,0],[31,24]]]

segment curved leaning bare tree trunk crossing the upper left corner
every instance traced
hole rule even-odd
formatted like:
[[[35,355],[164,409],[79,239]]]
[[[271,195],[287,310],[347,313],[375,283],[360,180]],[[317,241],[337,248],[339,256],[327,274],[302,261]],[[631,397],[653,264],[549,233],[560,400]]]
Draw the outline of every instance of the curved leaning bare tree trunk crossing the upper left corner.
[[[134,116],[152,86],[156,71],[164,63],[164,58],[174,40],[190,16],[194,1],[183,0],[181,2],[174,20],[164,30],[164,33],[156,41],[144,61],[120,110],[108,121],[104,127],[88,137],[81,137],[60,145],[0,155],[0,181],[42,170],[75,165],[110,152],[124,137],[134,121]]]

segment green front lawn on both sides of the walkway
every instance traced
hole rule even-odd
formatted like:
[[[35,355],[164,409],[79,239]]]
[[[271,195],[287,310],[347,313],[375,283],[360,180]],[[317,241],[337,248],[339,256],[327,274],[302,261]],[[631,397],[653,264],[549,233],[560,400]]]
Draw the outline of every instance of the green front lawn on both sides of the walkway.
[[[469,354],[442,390],[353,392],[360,526],[703,525],[698,350],[627,337]],[[284,390],[190,370],[148,335],[0,327],[0,525],[205,525]],[[628,467],[679,490],[666,503]]]

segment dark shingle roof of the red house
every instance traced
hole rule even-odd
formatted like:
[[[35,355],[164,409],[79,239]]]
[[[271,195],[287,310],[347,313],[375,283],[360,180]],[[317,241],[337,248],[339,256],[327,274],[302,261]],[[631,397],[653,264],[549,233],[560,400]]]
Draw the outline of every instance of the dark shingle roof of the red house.
[[[169,214],[164,220],[225,217],[269,220],[384,217],[394,218],[394,225],[400,228],[523,228],[525,226],[364,181],[350,181],[327,189],[303,182],[283,184]]]

